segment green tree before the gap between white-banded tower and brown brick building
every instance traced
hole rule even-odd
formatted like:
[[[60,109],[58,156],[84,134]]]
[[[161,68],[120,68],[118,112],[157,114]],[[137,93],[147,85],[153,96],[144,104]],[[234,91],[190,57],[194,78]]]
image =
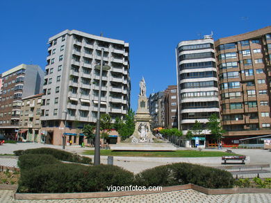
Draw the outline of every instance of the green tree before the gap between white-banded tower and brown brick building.
[[[208,118],[207,129],[211,131],[211,134],[213,134],[217,142],[221,140],[222,135],[225,132],[225,130],[222,129],[222,125],[217,114],[212,114],[210,118]]]

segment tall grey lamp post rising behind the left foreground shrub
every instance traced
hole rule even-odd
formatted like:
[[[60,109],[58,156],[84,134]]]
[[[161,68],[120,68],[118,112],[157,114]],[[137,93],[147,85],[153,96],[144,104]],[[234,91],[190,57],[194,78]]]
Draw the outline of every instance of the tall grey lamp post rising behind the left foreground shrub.
[[[98,112],[97,112],[97,125],[95,134],[95,154],[94,154],[94,165],[100,164],[100,107],[101,107],[101,78],[103,71],[108,71],[110,67],[104,65],[104,48],[101,48],[101,64],[97,64],[95,69],[100,71],[99,78],[99,95],[98,95]]]

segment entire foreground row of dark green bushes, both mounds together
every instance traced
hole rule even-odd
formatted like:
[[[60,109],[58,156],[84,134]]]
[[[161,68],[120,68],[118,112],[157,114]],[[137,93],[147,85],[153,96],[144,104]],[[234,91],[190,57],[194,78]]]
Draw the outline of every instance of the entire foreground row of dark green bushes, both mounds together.
[[[108,191],[109,186],[174,186],[197,184],[206,188],[232,188],[231,173],[176,163],[144,170],[138,175],[118,166],[64,164],[51,155],[19,157],[19,193],[75,193]]]

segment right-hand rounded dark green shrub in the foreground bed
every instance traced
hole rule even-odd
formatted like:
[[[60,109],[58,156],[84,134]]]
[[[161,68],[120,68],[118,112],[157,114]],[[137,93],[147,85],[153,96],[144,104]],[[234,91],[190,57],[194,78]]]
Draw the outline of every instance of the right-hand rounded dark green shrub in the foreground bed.
[[[206,188],[232,188],[231,173],[196,164],[176,163],[147,169],[136,175],[140,186],[197,184]]]

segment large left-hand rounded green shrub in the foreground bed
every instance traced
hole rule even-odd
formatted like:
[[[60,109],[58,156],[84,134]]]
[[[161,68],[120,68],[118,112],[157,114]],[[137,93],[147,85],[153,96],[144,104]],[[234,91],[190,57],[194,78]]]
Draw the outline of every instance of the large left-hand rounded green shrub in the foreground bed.
[[[109,186],[129,186],[133,173],[118,166],[53,164],[23,171],[19,193],[76,193],[107,191]]]

